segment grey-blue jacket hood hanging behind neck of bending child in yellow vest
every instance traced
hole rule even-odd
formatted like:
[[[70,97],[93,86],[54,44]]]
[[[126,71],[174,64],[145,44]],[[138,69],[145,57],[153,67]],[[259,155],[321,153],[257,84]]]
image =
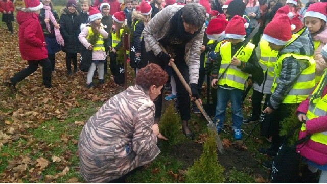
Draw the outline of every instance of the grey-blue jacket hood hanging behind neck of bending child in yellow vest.
[[[305,56],[312,56],[314,54],[313,40],[307,27],[303,27],[300,31],[295,33],[291,43],[280,50],[278,55],[287,53],[294,53]]]

